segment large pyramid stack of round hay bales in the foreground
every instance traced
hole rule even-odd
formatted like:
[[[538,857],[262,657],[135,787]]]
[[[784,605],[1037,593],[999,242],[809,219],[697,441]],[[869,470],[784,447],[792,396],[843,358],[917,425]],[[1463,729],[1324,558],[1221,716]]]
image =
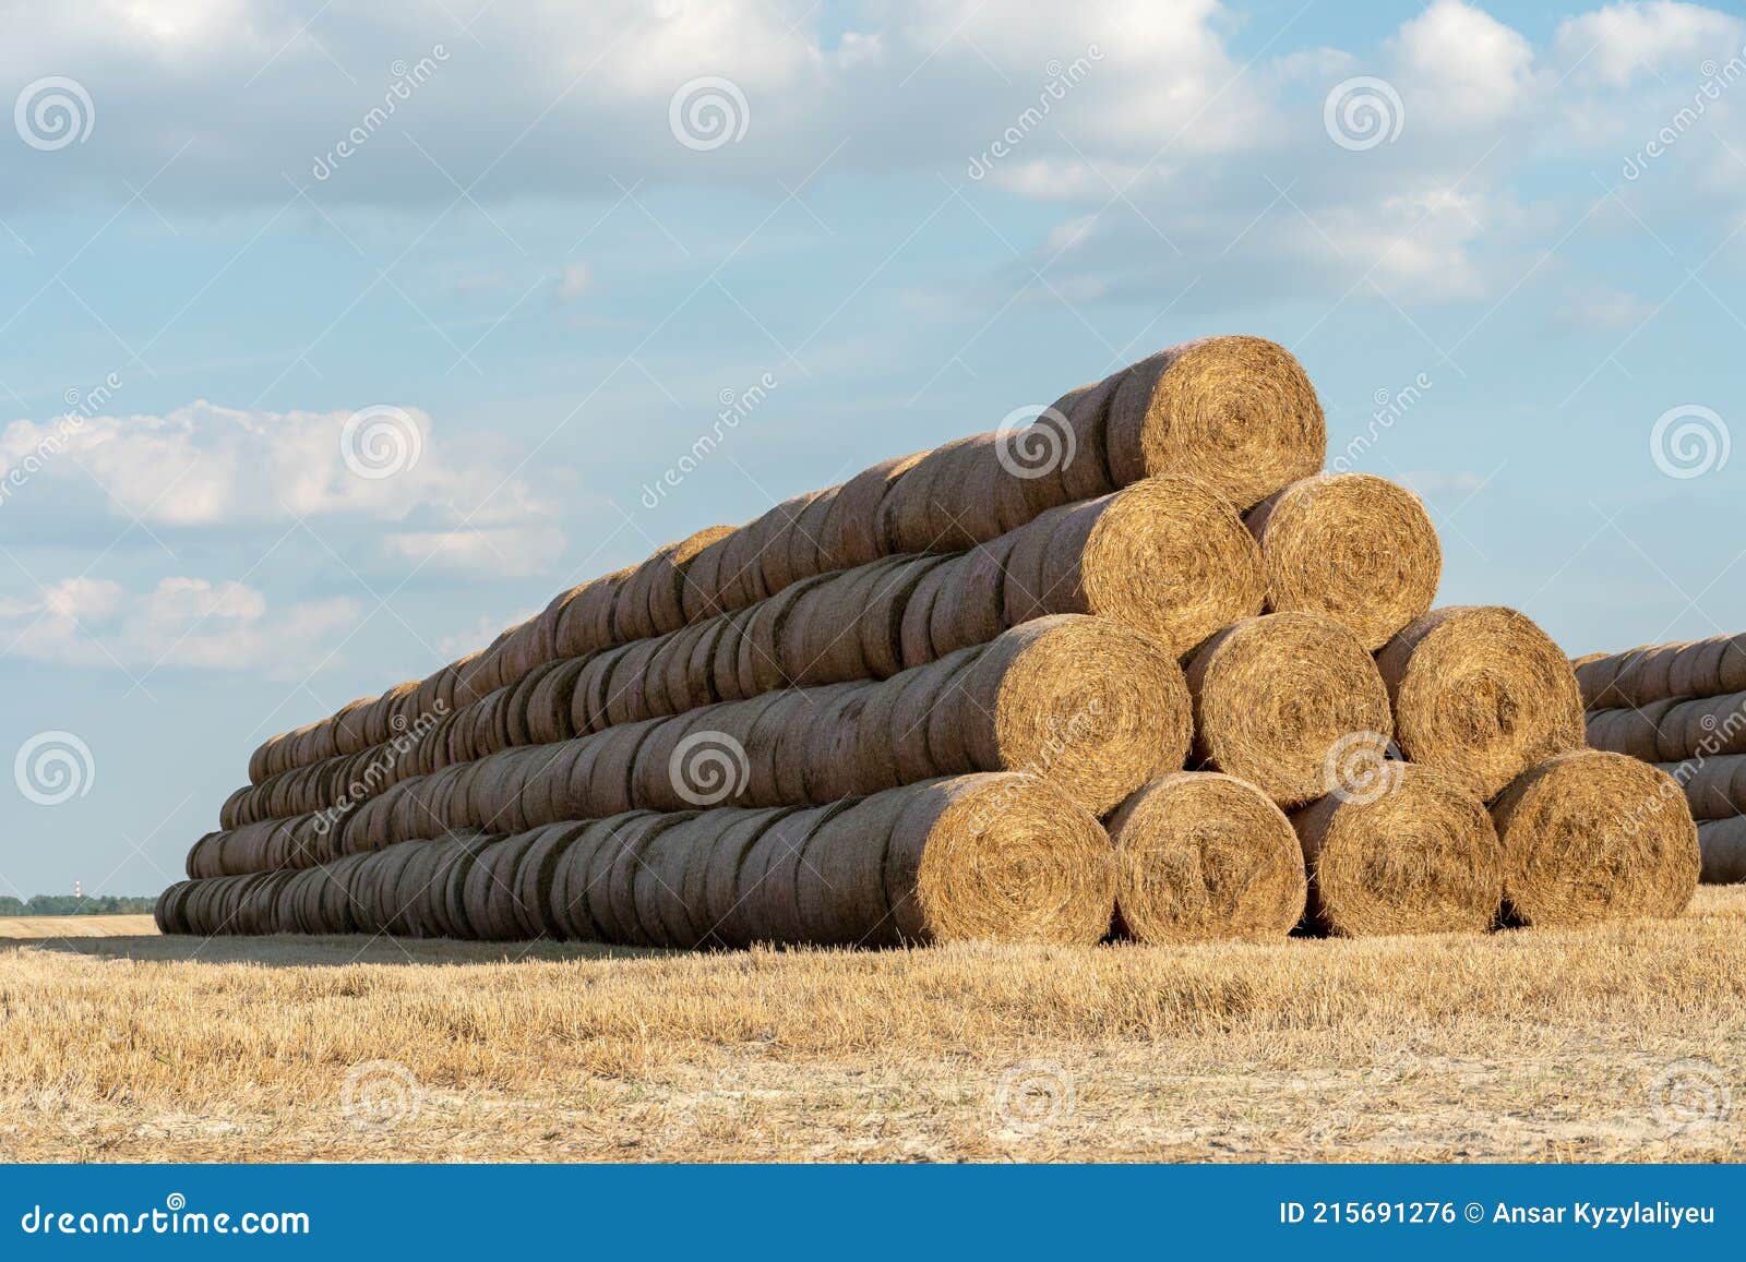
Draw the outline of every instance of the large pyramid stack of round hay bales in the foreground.
[[[1325,445],[1289,353],[1206,339],[700,531],[265,742],[159,923],[697,948],[1678,911],[1688,819],[1587,827],[1659,773],[1578,752],[1526,618],[1432,613],[1423,504]]]

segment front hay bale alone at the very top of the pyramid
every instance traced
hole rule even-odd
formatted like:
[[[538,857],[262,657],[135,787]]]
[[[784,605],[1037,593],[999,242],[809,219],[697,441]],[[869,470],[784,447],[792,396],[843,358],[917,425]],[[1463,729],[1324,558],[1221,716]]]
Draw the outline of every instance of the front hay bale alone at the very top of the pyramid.
[[[1290,351],[1208,337],[1124,370],[1103,443],[1117,485],[1179,473],[1241,511],[1322,468],[1327,424]]]

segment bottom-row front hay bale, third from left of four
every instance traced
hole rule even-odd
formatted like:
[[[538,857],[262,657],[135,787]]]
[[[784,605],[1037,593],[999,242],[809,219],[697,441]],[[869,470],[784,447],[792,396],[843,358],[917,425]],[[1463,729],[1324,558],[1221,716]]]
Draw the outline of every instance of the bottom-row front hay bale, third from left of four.
[[[1498,918],[1498,833],[1456,775],[1386,763],[1292,826],[1310,871],[1310,923],[1325,934],[1482,932]]]

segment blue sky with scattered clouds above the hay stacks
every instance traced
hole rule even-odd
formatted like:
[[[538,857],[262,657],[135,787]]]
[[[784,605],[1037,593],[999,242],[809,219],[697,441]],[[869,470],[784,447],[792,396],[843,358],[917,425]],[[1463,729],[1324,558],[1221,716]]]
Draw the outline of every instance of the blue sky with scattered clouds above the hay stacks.
[[[1737,5],[1053,9],[5,3],[0,752],[73,780],[0,892],[155,892],[272,731],[1205,333],[1444,602],[1746,627]]]

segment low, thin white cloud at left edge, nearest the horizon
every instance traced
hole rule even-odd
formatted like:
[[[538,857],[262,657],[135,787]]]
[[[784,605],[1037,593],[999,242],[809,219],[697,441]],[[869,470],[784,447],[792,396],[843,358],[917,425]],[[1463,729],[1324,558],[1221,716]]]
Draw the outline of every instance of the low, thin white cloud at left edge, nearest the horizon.
[[[321,662],[358,618],[353,600],[309,600],[272,613],[236,581],[164,578],[150,592],[70,578],[35,597],[0,599],[3,656],[73,667],[189,667],[274,674]]]

